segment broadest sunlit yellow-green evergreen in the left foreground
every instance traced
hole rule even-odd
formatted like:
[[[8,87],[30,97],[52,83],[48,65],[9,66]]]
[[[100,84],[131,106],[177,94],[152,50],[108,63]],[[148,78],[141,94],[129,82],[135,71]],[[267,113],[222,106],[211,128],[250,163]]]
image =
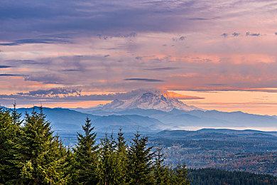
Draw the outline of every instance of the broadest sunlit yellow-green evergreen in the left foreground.
[[[31,115],[26,113],[13,153],[20,168],[16,184],[66,184],[65,147],[58,136],[53,136],[42,107],[39,112],[33,109]]]

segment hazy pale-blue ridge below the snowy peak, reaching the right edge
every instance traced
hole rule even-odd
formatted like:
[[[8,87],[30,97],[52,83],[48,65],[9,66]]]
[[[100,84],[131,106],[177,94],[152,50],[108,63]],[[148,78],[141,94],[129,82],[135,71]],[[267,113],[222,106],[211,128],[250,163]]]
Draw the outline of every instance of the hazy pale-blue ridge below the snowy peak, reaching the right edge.
[[[87,110],[96,115],[141,115],[153,117],[168,125],[168,129],[184,127],[272,127],[277,128],[277,119],[268,115],[252,115],[244,112],[220,112],[217,110],[177,110],[169,112],[161,110],[119,110],[106,112],[103,110]]]

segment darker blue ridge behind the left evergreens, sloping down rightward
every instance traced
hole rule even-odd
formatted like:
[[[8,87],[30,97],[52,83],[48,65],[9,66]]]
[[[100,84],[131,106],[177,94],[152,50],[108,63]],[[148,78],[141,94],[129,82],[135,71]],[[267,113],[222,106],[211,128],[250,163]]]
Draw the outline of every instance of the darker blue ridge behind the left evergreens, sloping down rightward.
[[[34,107],[38,111],[38,107]],[[33,111],[33,108],[20,108],[18,112],[22,114],[22,118],[25,112],[29,114]],[[43,112],[46,115],[46,120],[51,122],[51,126],[54,130],[63,131],[79,131],[82,129],[82,125],[85,124],[86,117],[92,120],[92,125],[95,126],[97,131],[106,132],[107,130],[117,130],[119,127],[126,131],[136,131],[138,128],[141,131],[151,131],[156,129],[163,129],[163,122],[160,122],[154,118],[141,116],[141,115],[109,115],[98,116],[90,115],[87,113],[77,112],[75,110],[63,109],[63,108],[48,108],[43,107]]]

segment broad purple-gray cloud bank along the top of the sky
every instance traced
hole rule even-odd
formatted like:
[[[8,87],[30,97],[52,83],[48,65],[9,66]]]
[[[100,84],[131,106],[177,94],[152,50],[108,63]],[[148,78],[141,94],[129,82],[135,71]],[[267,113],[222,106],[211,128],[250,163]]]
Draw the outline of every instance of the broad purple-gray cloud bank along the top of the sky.
[[[255,0],[256,1],[256,0]],[[254,1],[254,2],[255,2]],[[157,6],[158,4],[158,6]],[[140,32],[206,31],[227,18],[241,18],[246,1],[0,1],[1,46],[67,43],[80,36],[136,37]],[[261,7],[266,11],[274,3]],[[218,11],[220,7],[221,11]],[[203,17],[203,15],[205,15]],[[12,21],[11,21],[12,20]],[[209,28],[207,28],[209,27]],[[43,36],[46,40],[43,39]],[[30,38],[30,39],[29,39]],[[58,41],[56,41],[58,39]]]

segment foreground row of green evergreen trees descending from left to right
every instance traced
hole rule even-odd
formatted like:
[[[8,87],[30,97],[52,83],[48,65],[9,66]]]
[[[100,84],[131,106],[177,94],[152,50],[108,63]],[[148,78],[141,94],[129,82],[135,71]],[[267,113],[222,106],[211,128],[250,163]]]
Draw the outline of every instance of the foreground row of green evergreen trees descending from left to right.
[[[106,134],[99,144],[90,120],[69,149],[51,130],[43,109],[21,114],[0,108],[0,184],[190,184],[185,164],[163,164],[148,137]],[[154,152],[153,152],[154,151]]]

